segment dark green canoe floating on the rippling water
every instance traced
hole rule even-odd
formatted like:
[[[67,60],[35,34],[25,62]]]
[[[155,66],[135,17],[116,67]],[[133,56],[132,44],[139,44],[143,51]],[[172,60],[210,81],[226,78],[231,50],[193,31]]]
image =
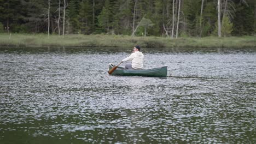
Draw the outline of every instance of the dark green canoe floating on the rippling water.
[[[109,70],[113,67],[115,67],[115,65],[110,63]],[[153,69],[125,69],[123,67],[118,67],[116,70],[113,71],[111,75],[166,77],[167,66]]]

